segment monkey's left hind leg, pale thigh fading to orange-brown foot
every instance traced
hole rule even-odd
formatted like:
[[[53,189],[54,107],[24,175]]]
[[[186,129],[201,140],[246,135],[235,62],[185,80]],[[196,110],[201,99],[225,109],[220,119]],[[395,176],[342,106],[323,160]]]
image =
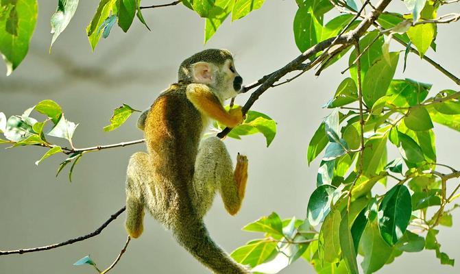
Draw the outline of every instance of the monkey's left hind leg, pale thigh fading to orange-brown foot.
[[[126,231],[132,238],[143,232],[144,188],[143,180],[148,178],[149,161],[147,153],[137,152],[130,158],[126,172]],[[144,177],[147,176],[147,177]]]

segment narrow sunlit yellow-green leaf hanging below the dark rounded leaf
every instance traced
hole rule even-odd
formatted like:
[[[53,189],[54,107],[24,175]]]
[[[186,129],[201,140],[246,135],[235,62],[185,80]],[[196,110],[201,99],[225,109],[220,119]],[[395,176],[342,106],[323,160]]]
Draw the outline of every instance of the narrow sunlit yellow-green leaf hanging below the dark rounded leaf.
[[[319,259],[324,262],[338,262],[340,255],[340,223],[341,216],[339,210],[334,210],[327,214],[321,226],[318,237]]]

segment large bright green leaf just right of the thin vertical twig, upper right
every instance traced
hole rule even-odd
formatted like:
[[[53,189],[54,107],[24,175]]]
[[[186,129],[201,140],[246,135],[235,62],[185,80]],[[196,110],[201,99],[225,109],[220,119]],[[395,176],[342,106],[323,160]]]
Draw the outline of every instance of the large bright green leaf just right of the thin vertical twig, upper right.
[[[380,97],[383,97],[398,66],[399,53],[391,52],[390,62],[380,58],[370,67],[363,79],[363,100],[372,107]]]

